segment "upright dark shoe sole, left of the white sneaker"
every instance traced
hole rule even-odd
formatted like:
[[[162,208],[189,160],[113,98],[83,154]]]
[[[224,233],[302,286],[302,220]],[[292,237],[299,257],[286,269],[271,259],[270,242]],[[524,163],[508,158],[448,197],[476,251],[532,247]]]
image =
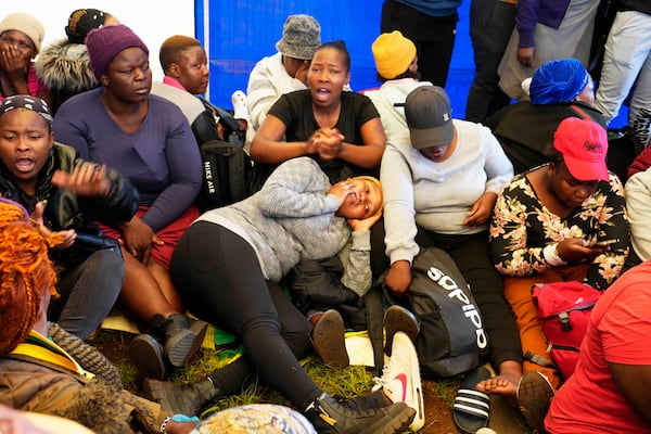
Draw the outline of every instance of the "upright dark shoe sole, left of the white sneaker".
[[[344,319],[334,309],[326,310],[312,329],[312,345],[326,365],[346,368],[350,360],[346,352]]]

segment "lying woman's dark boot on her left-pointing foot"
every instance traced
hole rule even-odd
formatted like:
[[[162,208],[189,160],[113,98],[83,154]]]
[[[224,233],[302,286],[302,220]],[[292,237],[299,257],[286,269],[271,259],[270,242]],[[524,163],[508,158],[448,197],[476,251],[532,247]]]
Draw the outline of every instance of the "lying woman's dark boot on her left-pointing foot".
[[[142,396],[158,403],[170,414],[200,416],[201,409],[220,395],[208,379],[190,384],[146,379],[142,385]]]

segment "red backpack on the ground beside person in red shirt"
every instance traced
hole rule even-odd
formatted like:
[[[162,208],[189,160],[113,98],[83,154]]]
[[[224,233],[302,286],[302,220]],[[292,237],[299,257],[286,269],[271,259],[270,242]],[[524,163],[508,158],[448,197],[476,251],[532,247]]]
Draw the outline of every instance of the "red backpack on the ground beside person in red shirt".
[[[574,373],[590,312],[601,291],[578,281],[538,283],[532,288],[547,353],[565,380]],[[525,355],[531,358],[534,355]],[[549,358],[549,357],[547,357]]]

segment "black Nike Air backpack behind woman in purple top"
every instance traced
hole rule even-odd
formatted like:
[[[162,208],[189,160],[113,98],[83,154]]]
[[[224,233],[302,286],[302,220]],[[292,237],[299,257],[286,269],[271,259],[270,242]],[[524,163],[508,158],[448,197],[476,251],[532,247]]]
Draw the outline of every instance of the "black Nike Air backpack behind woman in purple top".
[[[246,131],[224,108],[202,102],[224,130],[225,140],[205,140],[199,144],[203,163],[201,192],[194,201],[200,212],[239,202],[251,195],[253,163],[244,150]],[[213,126],[213,128],[216,125]]]

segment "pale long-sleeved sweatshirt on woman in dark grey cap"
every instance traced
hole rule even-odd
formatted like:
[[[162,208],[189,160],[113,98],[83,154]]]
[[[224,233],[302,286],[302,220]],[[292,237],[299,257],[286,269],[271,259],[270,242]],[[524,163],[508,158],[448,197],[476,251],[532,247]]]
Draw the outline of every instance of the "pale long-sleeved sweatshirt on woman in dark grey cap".
[[[513,177],[513,166],[490,130],[454,119],[457,148],[441,163],[424,157],[410,143],[387,143],[380,178],[384,193],[386,254],[391,263],[411,260],[419,252],[417,225],[444,234],[477,233],[486,225],[461,222],[485,192],[499,193]]]

